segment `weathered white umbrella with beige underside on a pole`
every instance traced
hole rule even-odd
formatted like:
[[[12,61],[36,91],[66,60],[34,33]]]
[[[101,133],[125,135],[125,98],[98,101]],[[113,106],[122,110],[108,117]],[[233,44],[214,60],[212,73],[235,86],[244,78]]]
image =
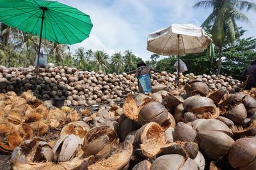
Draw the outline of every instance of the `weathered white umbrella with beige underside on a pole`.
[[[212,39],[205,35],[204,29],[193,24],[172,24],[148,35],[147,50],[160,55],[178,55],[198,53],[209,46]]]

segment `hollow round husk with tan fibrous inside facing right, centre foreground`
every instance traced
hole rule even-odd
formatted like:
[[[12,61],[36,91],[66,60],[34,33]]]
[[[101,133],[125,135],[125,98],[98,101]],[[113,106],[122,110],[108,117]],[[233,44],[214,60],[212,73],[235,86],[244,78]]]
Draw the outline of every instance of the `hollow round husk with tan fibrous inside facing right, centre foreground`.
[[[154,157],[161,152],[166,137],[162,127],[156,122],[143,125],[135,134],[134,145],[137,152],[144,157]]]

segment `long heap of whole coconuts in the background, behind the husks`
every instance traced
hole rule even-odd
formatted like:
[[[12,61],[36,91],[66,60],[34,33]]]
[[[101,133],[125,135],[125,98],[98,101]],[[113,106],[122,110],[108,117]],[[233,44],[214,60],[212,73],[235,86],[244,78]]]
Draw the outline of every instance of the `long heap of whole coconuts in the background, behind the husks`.
[[[39,69],[36,87],[34,67],[6,68],[0,66],[0,93],[14,91],[21,94],[26,90],[33,90],[35,96],[44,101],[63,98],[65,106],[91,106],[97,103],[118,103],[125,99],[131,90],[138,89],[135,74],[83,72],[67,66],[48,65],[46,69]],[[177,73],[168,74],[165,71],[154,73],[152,71],[153,92],[159,89],[169,92],[177,90],[177,85],[174,83],[176,77]],[[181,85],[185,85],[189,80],[204,81],[210,91],[216,91],[222,87],[234,93],[239,90],[239,87],[243,87],[243,83],[234,80],[231,76],[180,74]]]

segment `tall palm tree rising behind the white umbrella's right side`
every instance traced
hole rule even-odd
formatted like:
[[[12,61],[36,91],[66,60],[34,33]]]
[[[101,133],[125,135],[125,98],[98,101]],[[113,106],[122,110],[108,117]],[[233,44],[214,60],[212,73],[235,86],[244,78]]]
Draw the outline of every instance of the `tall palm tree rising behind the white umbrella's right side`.
[[[250,0],[207,0],[194,5],[194,8],[200,7],[212,8],[212,13],[206,18],[202,27],[212,25],[212,41],[219,53],[217,74],[220,74],[222,48],[227,43],[234,43],[236,36],[239,35],[236,22],[249,21],[241,10],[256,10],[256,4]]]

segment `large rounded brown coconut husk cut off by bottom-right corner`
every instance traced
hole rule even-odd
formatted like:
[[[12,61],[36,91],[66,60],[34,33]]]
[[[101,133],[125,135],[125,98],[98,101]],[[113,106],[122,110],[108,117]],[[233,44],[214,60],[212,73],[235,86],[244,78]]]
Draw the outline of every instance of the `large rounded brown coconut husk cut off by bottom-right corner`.
[[[237,139],[228,153],[228,162],[234,169],[255,169],[256,137]]]

